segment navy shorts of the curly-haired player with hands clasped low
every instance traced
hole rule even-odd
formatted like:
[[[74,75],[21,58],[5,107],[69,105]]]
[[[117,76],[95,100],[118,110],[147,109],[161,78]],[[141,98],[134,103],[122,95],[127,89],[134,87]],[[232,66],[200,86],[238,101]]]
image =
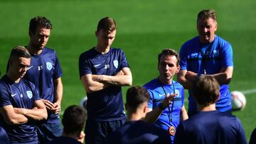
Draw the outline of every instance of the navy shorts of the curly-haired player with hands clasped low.
[[[48,143],[50,140],[62,135],[63,128],[61,123],[38,123],[37,125],[38,142]]]

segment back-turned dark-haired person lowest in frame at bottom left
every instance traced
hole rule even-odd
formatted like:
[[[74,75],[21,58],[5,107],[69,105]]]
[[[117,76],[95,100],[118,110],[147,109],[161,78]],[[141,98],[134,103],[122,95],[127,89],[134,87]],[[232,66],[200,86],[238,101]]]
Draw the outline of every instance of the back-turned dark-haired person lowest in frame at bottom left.
[[[48,144],[81,144],[85,141],[85,126],[87,112],[80,106],[72,105],[65,109],[63,114],[63,135],[50,141]]]

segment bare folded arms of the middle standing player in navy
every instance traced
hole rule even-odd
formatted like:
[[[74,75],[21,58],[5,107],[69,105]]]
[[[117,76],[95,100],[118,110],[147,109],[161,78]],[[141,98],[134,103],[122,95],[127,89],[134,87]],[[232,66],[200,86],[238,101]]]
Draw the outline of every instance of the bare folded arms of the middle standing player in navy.
[[[106,89],[107,87],[110,87],[110,85],[131,86],[132,72],[129,70],[129,67],[124,67],[114,76],[85,74],[81,77],[81,80],[85,87],[85,91],[87,93],[92,93]]]

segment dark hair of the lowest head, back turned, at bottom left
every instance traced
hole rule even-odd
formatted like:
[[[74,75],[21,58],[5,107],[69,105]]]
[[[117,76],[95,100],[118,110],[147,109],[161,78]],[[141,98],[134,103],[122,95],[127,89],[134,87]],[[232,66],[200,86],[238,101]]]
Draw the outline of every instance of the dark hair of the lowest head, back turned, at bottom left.
[[[72,105],[63,114],[63,131],[67,134],[82,131],[87,119],[87,111],[81,106]]]

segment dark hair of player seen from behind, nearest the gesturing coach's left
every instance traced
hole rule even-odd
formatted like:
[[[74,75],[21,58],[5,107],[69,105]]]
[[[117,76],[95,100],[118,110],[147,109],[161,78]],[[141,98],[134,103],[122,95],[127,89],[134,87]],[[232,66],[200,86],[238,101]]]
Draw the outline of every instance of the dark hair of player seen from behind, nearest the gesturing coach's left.
[[[149,92],[144,87],[130,87],[127,89],[127,106],[134,111],[144,102],[149,102]]]

